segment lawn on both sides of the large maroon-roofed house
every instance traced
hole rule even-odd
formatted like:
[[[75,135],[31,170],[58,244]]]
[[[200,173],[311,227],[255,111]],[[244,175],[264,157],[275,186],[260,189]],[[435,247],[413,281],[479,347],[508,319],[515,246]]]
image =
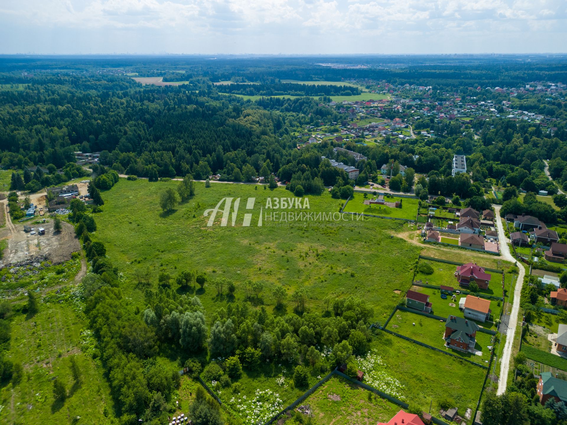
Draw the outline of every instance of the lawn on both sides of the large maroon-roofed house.
[[[441,238],[441,241],[443,242],[443,238]],[[454,260],[453,258],[451,258],[451,260]],[[422,281],[423,283],[429,283],[430,285],[436,285],[436,286],[441,286],[441,285],[445,285],[445,286],[452,286],[456,289],[459,288],[459,282],[457,282],[457,279],[455,277],[455,271],[457,266],[454,264],[447,264],[447,263],[442,263],[439,261],[430,261],[430,260],[424,260],[423,258],[420,258],[420,262],[421,261],[425,261],[427,262],[431,267],[433,267],[433,273],[432,274],[424,274],[421,273],[420,271],[417,271],[416,276],[413,278],[414,281]],[[454,260],[454,261],[459,261],[459,260]],[[462,261],[462,260],[461,260]],[[475,260],[471,259],[469,260],[471,262],[476,262]],[[478,263],[481,267],[484,266],[483,263]],[[492,267],[490,267],[492,268]],[[479,294],[487,294],[487,295],[494,295],[494,296],[498,296],[501,297],[502,296],[502,275],[500,273],[496,273],[494,271],[486,271],[485,273],[488,273],[489,275],[492,276],[492,278],[490,279],[490,282],[488,284],[488,289],[487,290],[479,290]],[[508,290],[510,287],[510,283],[511,283],[511,274],[509,273],[505,273],[505,280],[506,280],[506,289]]]

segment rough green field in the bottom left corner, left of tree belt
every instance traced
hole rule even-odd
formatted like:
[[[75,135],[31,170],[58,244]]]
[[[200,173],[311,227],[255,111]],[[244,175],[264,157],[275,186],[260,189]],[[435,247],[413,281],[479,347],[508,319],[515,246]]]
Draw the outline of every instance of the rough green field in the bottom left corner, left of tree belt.
[[[0,389],[1,423],[60,425],[79,416],[84,423],[107,423],[103,409],[112,414],[112,397],[103,368],[88,353],[94,338],[81,335],[87,323],[75,312],[72,298],[62,293],[53,303],[40,303],[35,316],[15,313],[12,318],[5,355],[23,366],[23,376],[18,385]],[[77,360],[80,383],[71,377],[71,357]],[[69,394],[64,403],[54,401],[54,379],[64,381]]]

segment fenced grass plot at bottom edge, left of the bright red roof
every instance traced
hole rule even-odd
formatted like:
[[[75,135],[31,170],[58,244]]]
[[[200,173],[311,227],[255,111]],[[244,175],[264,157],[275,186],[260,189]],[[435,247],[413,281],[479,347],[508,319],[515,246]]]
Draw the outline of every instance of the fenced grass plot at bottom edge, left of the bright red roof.
[[[319,425],[367,425],[388,422],[401,407],[341,376],[333,376],[302,402]]]

